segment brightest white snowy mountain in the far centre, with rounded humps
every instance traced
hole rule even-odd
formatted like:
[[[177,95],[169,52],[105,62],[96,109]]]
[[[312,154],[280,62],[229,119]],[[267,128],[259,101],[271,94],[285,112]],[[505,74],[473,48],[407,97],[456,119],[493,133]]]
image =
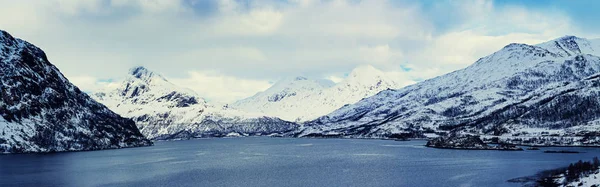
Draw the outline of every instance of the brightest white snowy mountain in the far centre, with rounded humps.
[[[231,106],[301,122],[316,119],[382,90],[400,87],[384,72],[364,65],[352,70],[345,80],[337,84],[305,77],[283,79],[271,88]]]

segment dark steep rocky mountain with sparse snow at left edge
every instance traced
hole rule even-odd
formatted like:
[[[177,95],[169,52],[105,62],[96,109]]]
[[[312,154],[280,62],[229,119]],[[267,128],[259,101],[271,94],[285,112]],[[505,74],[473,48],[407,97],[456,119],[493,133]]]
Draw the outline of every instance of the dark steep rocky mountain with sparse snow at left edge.
[[[38,47],[0,30],[0,153],[151,145],[71,84]]]

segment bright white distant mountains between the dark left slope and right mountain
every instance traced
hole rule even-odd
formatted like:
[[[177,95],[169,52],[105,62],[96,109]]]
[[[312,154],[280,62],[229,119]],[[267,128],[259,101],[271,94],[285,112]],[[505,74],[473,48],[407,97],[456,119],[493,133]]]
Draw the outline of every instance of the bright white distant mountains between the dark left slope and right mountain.
[[[118,86],[94,93],[92,97],[133,119],[140,131],[153,140],[282,136],[300,127],[290,121],[325,115],[344,104],[397,85],[383,72],[361,66],[338,84],[295,77],[281,80],[251,98],[219,105],[174,85],[158,73],[134,67]]]

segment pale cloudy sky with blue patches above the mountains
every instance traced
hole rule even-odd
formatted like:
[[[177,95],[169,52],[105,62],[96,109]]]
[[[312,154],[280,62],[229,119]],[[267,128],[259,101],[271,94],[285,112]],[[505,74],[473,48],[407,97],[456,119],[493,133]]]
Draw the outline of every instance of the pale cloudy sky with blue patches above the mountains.
[[[509,43],[598,38],[600,1],[0,0],[0,29],[93,92],[143,65],[215,101],[370,64],[410,83]]]

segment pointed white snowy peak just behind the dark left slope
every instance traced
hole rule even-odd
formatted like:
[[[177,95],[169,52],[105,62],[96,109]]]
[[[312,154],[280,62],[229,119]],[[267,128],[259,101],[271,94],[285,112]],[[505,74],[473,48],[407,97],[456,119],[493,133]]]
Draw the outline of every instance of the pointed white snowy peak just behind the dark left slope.
[[[123,82],[92,97],[133,119],[142,134],[155,140],[272,135],[298,127],[260,113],[213,105],[144,67],[132,68]]]

